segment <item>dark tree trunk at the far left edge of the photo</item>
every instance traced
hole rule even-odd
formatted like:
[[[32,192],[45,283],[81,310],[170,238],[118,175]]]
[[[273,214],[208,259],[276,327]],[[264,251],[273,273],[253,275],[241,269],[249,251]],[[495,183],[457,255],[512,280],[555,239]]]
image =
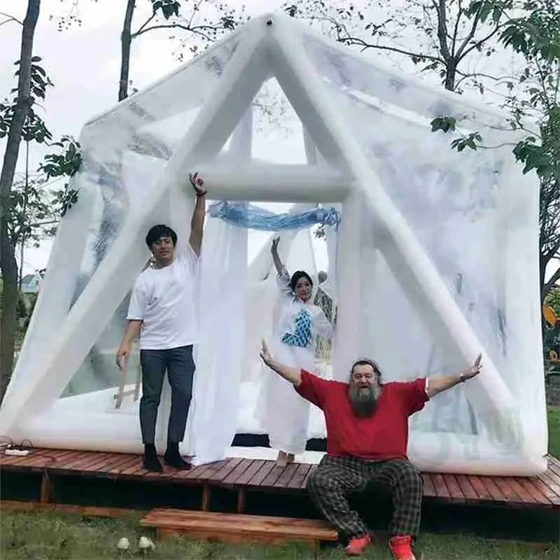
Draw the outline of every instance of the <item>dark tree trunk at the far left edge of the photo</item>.
[[[18,305],[18,264],[15,262],[15,244],[8,235],[10,193],[15,165],[18,163],[23,124],[31,103],[29,97],[31,53],[40,6],[41,0],[29,0],[27,3],[27,14],[22,29],[18,97],[8,132],[6,153],[4,153],[0,175],[0,268],[3,280],[3,311],[0,321],[0,401],[6,393],[6,387],[12,374]]]

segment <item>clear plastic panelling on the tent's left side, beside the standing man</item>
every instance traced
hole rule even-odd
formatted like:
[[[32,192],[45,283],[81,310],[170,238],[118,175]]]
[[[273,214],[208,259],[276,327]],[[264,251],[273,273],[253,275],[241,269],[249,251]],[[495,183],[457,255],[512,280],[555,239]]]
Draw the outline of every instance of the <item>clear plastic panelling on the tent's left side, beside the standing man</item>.
[[[214,91],[237,43],[237,37],[221,43],[86,125],[81,137],[84,164],[77,179],[78,185],[87,182],[92,190],[94,208],[86,226],[85,251],[71,304],[108,253],[131,209],[143,204],[200,106]],[[62,396],[118,386],[114,360],[129,297],[120,304]]]

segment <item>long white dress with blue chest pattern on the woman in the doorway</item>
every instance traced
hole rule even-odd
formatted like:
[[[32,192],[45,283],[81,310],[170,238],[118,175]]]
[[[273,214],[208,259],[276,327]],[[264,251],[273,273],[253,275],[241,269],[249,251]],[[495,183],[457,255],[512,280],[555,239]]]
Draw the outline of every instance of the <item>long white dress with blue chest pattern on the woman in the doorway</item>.
[[[278,275],[282,304],[270,351],[274,359],[290,367],[314,371],[317,335],[332,337],[332,325],[320,307],[294,297],[286,269]],[[265,367],[260,421],[270,447],[286,453],[305,450],[309,424],[309,402],[298,395],[293,384]]]

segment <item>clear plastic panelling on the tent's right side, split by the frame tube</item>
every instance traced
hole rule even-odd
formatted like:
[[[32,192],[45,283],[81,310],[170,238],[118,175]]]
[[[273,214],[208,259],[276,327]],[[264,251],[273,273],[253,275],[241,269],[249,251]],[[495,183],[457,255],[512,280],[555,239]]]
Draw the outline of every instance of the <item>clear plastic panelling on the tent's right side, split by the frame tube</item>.
[[[533,207],[533,197],[507,186],[508,173],[515,165],[510,151],[452,151],[449,135],[431,134],[426,113],[409,109],[416,95],[412,87],[402,83],[397,87],[391,76],[377,76],[369,65],[367,71],[364,68],[360,73],[360,64],[353,57],[345,57],[334,48],[323,48],[318,42],[309,52],[313,52],[335,105],[344,111],[346,122],[377,174],[379,183],[370,188],[381,188],[389,195],[508,388],[521,402],[527,379],[517,372],[516,345],[532,346],[534,339],[528,336],[525,342],[520,332],[527,332],[524,329],[528,325],[519,325],[508,317],[512,301],[505,286],[514,271],[506,255],[511,253],[512,243],[519,244],[519,230],[525,232],[524,243],[536,241],[538,209]],[[319,57],[323,57],[321,62]],[[405,101],[403,96],[409,97]],[[436,103],[432,109],[437,110]],[[461,105],[453,110],[461,111]],[[447,111],[451,112],[451,108]],[[524,201],[527,204],[526,215],[519,216],[515,223],[518,229],[514,237],[504,227],[504,200],[511,202],[511,197],[517,201],[513,206],[523,207]],[[410,271],[394,267],[400,255],[382,228],[377,229],[375,243],[379,249],[377,275],[370,290],[361,297],[370,302],[379,318],[372,351],[388,379],[461,370],[464,363],[447,335],[434,332],[430,321],[426,321],[426,308],[421,306],[423,296],[414,289]],[[521,246],[516,246],[523,253],[521,258],[525,258],[526,248],[521,251]],[[387,262],[391,262],[393,270]],[[527,262],[526,269],[532,265]],[[531,281],[526,286],[537,289]],[[533,299],[528,297],[517,306],[531,306]],[[412,426],[417,430],[467,434],[479,433],[480,428],[461,388],[439,395],[423,414],[414,416]]]

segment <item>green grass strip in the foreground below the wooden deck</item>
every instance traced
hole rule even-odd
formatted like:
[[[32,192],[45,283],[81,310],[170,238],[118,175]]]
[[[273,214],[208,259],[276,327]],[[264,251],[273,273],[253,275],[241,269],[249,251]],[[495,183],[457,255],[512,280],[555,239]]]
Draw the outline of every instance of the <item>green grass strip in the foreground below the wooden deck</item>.
[[[73,514],[4,512],[0,518],[0,556],[3,560],[110,560],[120,559],[119,538],[127,537],[131,549],[124,559],[140,559],[140,535],[154,538],[139,526],[139,517],[94,519]],[[554,545],[491,542],[464,535],[423,535],[419,541],[426,560],[545,560],[558,559]],[[342,547],[325,547],[318,560],[344,559]],[[235,547],[180,538],[155,543],[151,560],[311,560],[314,552],[304,545]],[[385,542],[367,549],[367,560],[390,560]]]

